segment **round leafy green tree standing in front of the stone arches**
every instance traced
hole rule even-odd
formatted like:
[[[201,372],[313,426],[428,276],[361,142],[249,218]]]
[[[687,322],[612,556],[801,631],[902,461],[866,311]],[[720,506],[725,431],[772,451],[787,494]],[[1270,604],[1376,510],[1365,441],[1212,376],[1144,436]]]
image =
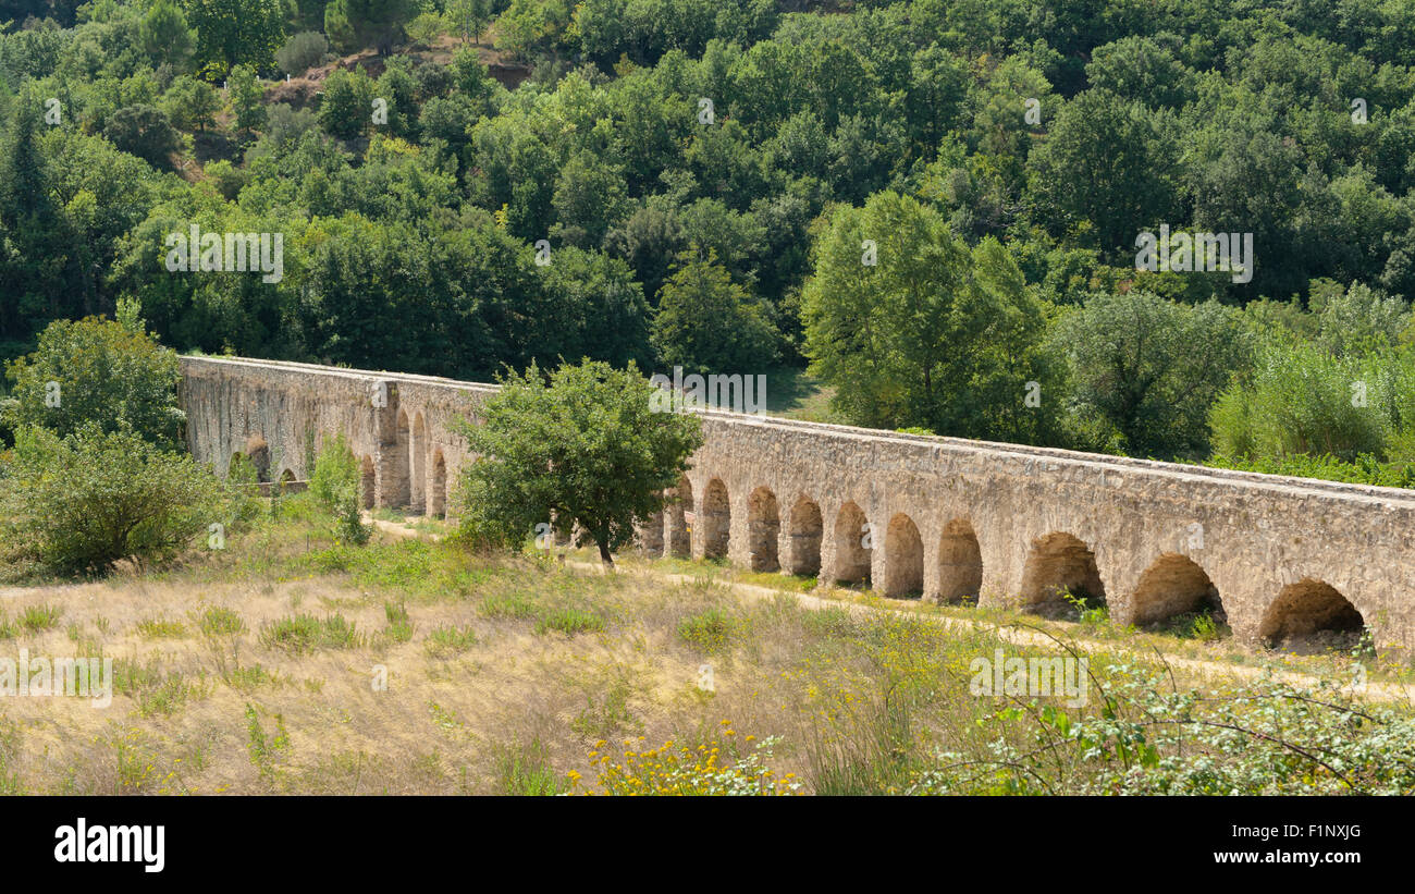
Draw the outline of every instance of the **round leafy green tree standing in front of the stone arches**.
[[[600,560],[662,511],[688,457],[702,444],[696,416],[654,412],[655,388],[638,369],[586,361],[546,375],[511,373],[463,434],[478,454],[463,474],[463,533],[509,546],[549,525],[579,530]],[[542,526],[545,525],[545,526]]]

